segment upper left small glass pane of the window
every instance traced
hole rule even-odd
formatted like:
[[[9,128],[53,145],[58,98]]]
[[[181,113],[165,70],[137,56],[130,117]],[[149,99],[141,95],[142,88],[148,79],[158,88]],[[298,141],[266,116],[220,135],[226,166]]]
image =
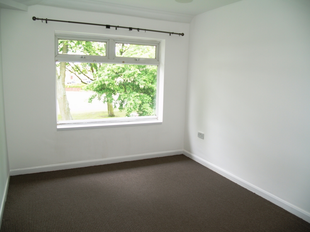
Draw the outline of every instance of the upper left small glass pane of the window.
[[[105,56],[105,42],[58,40],[58,54]]]

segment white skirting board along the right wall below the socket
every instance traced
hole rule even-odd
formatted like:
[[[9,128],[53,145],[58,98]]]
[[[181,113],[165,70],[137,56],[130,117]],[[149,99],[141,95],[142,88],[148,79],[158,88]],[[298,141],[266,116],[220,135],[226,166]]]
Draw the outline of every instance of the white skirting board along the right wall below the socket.
[[[226,177],[227,179],[231,180],[232,182],[237,183],[238,185],[250,190],[251,192],[254,192],[255,194],[265,198],[266,200],[272,202],[273,204],[276,204],[277,206],[280,206],[281,208],[284,208],[288,212],[296,215],[297,217],[302,218],[303,220],[307,221],[310,223],[310,213],[304,211],[301,208],[298,208],[297,206],[290,204],[289,202],[282,200],[281,198],[249,183],[246,182],[245,180],[221,169],[220,167],[198,157],[197,155],[194,155],[186,150],[183,150],[183,154],[186,155],[187,157],[191,158],[192,160],[206,166],[207,168],[215,171],[216,173]]]

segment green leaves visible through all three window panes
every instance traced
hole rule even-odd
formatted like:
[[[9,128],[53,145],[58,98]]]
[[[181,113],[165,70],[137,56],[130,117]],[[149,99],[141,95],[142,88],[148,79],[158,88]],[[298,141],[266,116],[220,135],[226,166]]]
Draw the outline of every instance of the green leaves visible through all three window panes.
[[[59,53],[64,42],[68,42],[68,54],[105,54],[105,46],[94,45],[95,42],[61,40]],[[155,58],[154,46],[117,44],[116,50],[118,56]],[[113,103],[114,109],[118,105],[127,117],[135,112],[139,116],[155,115],[157,66],[70,62],[67,69],[81,79],[93,80],[83,87],[95,92],[89,102],[98,98]]]

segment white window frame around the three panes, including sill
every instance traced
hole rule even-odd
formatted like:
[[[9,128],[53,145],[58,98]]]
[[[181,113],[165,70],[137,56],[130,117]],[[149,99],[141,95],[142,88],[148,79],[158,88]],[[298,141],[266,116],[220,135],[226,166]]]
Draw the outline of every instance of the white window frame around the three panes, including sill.
[[[58,40],[59,39],[60,40],[106,42],[106,55],[99,56],[99,55],[58,54]],[[156,46],[155,58],[153,59],[153,58],[116,57],[115,56],[115,44],[116,43]],[[161,124],[162,113],[163,113],[163,83],[164,83],[163,74],[164,74],[164,52],[165,52],[164,47],[165,47],[164,40],[55,31],[55,72],[56,72],[56,62],[139,64],[139,65],[156,65],[157,66],[156,115],[155,116],[58,121],[57,110],[56,110],[57,130],[74,130],[74,129],[90,129],[90,128],[101,128],[101,127],[120,127],[120,126]],[[55,77],[56,77],[56,73],[55,73]],[[55,78],[55,86],[56,86],[56,78]],[[57,104],[57,96],[56,96],[56,104]]]

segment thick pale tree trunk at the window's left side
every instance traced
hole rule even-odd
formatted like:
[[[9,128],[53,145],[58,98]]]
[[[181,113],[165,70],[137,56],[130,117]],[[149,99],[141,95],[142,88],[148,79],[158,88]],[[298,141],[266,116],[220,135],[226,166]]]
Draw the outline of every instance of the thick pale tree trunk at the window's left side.
[[[68,53],[68,43],[64,41],[63,54]],[[57,73],[57,72],[56,72]],[[66,77],[66,62],[60,62],[60,75],[56,76],[56,91],[57,101],[60,109],[62,120],[72,120],[70,114],[69,102],[67,100],[66,88],[64,86],[64,79]]]

